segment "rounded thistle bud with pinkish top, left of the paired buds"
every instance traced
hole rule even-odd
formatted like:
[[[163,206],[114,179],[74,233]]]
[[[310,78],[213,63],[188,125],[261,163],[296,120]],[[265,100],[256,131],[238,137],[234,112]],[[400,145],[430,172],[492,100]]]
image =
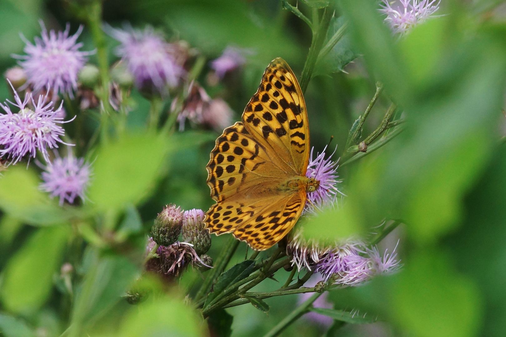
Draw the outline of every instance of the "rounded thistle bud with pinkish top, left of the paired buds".
[[[176,205],[167,205],[158,213],[151,228],[151,236],[158,245],[170,246],[178,240],[182,225],[181,209]]]

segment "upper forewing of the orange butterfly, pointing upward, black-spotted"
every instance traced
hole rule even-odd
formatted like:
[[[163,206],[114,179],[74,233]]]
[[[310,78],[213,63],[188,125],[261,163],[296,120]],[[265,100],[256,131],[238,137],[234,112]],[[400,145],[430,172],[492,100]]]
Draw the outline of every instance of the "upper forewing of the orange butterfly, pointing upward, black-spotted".
[[[309,163],[306,103],[297,78],[281,58],[274,59],[242,114],[249,133],[283,169],[305,175]]]

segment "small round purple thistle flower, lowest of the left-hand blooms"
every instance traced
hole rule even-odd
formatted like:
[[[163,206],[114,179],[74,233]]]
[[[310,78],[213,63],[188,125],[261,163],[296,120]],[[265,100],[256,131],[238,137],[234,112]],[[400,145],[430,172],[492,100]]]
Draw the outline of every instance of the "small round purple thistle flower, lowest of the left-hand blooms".
[[[69,204],[76,197],[85,200],[85,190],[90,181],[90,165],[83,158],[75,158],[69,151],[67,157],[57,157],[42,172],[43,183],[40,188],[49,192],[52,197],[60,198],[60,206],[64,201]]]

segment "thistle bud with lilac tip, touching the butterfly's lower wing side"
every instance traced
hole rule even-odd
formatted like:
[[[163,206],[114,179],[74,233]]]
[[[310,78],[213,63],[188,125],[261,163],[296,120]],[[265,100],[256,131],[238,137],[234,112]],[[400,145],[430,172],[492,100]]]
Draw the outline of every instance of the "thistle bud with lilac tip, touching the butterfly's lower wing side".
[[[211,237],[204,226],[204,212],[199,209],[186,211],[183,216],[183,242],[193,245],[200,256],[211,247]]]

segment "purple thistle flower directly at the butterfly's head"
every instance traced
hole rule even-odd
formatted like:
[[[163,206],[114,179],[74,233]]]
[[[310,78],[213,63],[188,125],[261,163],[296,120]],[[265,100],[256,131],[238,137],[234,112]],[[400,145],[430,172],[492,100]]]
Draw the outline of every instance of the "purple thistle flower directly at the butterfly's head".
[[[335,205],[336,196],[341,193],[336,187],[338,184],[339,175],[337,173],[338,169],[338,161],[333,162],[331,160],[334,152],[325,159],[325,147],[322,153],[316,155],[316,158],[313,160],[313,150],[311,149],[311,156],[309,159],[308,169],[306,171],[306,177],[315,178],[320,182],[319,187],[314,192],[309,192],[307,194],[308,201],[304,208],[304,213],[306,212],[314,212],[317,209],[321,209],[325,206]]]

